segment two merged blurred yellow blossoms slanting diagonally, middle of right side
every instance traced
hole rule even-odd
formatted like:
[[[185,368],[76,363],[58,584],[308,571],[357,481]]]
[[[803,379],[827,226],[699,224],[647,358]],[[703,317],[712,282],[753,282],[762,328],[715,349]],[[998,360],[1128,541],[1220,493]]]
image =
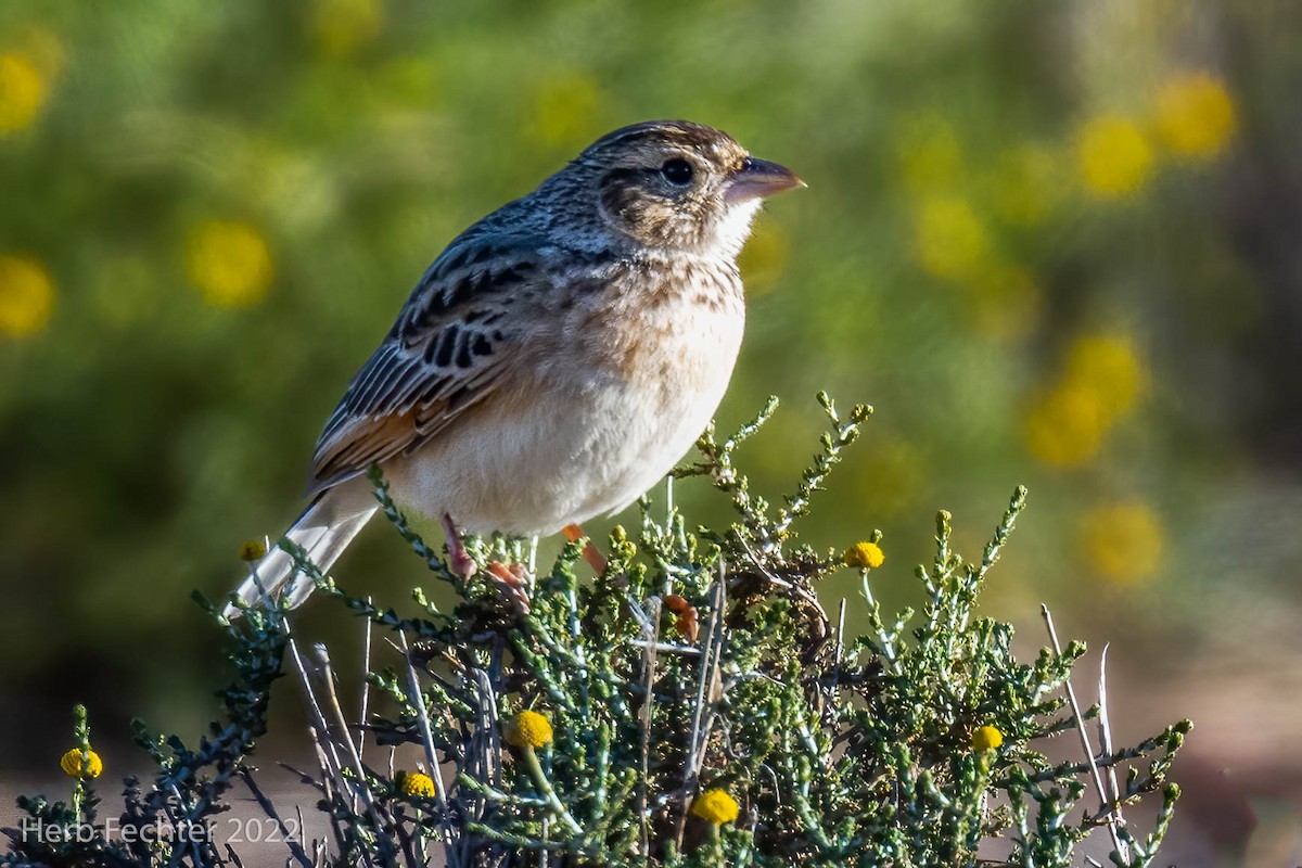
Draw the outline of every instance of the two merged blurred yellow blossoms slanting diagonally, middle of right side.
[[[1046,465],[1094,458],[1147,388],[1148,373],[1129,337],[1087,334],[1068,353],[1061,377],[1026,414],[1026,446]]]

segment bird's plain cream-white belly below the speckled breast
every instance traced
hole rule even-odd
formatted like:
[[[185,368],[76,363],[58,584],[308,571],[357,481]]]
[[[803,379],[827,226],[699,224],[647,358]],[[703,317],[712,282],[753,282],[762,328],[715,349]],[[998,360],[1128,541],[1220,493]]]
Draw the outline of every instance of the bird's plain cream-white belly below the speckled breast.
[[[740,310],[680,314],[647,324],[618,363],[570,346],[579,351],[387,462],[395,496],[473,534],[549,535],[628,506],[704,431],[741,345]]]

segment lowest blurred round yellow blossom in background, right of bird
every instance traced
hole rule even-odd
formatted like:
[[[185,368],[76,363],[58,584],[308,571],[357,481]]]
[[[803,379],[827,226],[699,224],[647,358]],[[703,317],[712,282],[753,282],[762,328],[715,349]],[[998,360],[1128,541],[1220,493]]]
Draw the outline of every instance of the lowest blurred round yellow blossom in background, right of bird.
[[[1161,565],[1165,537],[1151,506],[1112,504],[1081,517],[1081,558],[1116,584],[1141,582]]]

